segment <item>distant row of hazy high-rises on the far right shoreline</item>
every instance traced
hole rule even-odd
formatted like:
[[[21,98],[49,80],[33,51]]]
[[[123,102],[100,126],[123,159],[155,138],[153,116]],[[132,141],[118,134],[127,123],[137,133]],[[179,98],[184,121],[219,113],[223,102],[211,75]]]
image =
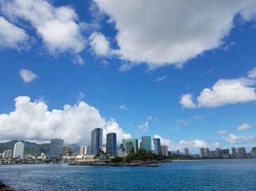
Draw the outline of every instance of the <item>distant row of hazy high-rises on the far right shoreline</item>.
[[[202,158],[256,158],[256,147],[253,147],[251,152],[246,152],[244,147],[232,147],[232,153],[229,148],[216,148],[214,151],[209,151],[209,148],[200,148],[199,150]]]

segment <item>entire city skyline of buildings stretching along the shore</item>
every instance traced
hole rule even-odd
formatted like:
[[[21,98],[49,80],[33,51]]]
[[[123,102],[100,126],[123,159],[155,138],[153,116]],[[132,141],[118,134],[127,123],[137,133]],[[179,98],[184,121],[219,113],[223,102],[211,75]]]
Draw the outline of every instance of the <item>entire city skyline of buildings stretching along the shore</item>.
[[[184,148],[184,152],[168,151],[167,145],[161,145],[161,140],[155,138],[152,141],[153,149],[151,146],[151,136],[142,136],[141,142],[137,138],[123,139],[122,148],[117,145],[116,133],[108,133],[106,135],[106,143],[103,144],[103,129],[95,128],[91,132],[90,146],[81,145],[79,153],[74,155],[73,149],[70,146],[64,146],[64,139],[51,139],[49,156],[41,153],[41,156],[33,156],[26,154],[24,156],[24,146],[22,142],[16,142],[13,150],[5,150],[0,154],[2,159],[48,159],[48,158],[78,158],[78,159],[95,159],[95,156],[114,158],[116,156],[125,157],[130,152],[138,152],[139,148],[143,148],[148,152],[155,154],[162,154],[163,156],[191,156],[201,158],[256,158],[256,147],[253,147],[251,152],[246,152],[244,147],[232,147],[210,151],[209,148],[200,148],[200,154],[189,153],[189,148]]]

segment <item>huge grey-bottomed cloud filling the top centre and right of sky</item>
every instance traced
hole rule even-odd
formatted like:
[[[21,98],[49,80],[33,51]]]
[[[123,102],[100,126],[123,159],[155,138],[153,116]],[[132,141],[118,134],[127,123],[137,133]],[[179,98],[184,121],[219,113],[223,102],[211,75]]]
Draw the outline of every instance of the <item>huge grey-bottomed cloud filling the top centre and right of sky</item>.
[[[150,69],[181,66],[204,51],[220,47],[234,18],[249,21],[255,1],[128,1],[94,0],[117,30],[121,59]],[[146,15],[146,16],[145,16]]]

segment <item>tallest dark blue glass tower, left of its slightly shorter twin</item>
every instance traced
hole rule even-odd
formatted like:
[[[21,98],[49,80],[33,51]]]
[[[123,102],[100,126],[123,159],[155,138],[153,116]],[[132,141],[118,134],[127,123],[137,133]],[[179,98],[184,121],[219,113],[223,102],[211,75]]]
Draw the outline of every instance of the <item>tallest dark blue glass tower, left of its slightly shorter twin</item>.
[[[90,154],[99,154],[99,149],[102,148],[103,129],[95,128],[90,134]]]

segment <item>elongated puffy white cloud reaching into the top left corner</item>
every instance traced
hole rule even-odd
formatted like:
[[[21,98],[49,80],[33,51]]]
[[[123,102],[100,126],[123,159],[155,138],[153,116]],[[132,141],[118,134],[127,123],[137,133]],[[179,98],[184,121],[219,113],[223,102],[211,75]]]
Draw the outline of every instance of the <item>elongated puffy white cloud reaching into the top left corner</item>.
[[[71,7],[54,7],[44,0],[2,1],[1,5],[2,13],[10,20],[29,21],[50,53],[79,53],[84,49],[82,23],[78,23]]]

